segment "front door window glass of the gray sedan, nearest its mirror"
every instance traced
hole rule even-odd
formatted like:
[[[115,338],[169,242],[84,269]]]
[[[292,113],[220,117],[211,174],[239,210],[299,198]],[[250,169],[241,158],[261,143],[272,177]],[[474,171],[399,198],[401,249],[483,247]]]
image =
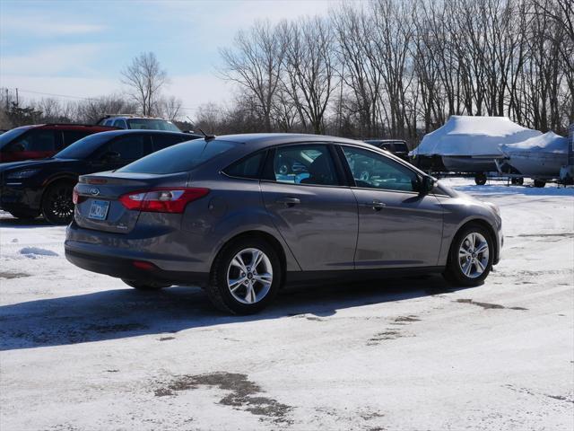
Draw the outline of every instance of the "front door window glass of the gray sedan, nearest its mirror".
[[[398,191],[418,187],[416,172],[382,154],[351,146],[344,146],[343,153],[357,187]]]

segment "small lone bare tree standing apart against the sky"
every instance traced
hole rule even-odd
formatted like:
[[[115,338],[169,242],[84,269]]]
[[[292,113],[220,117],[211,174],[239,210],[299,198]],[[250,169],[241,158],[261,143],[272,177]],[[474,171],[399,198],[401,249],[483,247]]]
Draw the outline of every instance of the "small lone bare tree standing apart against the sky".
[[[129,95],[143,115],[153,115],[161,99],[161,87],[169,82],[155,54],[143,52],[121,72],[122,83],[129,87]]]

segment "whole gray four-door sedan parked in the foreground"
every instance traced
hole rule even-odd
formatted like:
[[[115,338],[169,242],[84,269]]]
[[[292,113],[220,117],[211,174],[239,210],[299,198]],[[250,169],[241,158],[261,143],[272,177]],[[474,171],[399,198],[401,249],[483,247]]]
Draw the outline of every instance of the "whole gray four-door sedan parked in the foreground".
[[[196,139],[80,177],[74,203],[72,263],[138,289],[199,284],[235,313],[301,280],[440,272],[476,286],[502,245],[496,206],[329,136]]]

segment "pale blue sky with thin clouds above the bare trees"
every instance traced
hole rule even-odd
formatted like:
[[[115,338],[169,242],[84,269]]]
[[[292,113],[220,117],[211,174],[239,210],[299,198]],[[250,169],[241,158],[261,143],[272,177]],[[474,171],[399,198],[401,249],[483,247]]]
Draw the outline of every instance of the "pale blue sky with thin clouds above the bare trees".
[[[0,87],[93,97],[122,92],[120,71],[153,51],[167,69],[166,93],[193,110],[225,102],[218,48],[257,19],[324,14],[332,0],[0,0]]]

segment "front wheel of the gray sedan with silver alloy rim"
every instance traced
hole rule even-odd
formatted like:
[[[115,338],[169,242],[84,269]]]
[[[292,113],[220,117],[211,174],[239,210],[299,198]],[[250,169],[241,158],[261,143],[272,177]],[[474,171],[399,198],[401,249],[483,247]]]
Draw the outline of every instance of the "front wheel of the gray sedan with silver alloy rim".
[[[491,272],[493,259],[491,233],[480,224],[468,224],[450,246],[443,276],[457,286],[479,286]]]

